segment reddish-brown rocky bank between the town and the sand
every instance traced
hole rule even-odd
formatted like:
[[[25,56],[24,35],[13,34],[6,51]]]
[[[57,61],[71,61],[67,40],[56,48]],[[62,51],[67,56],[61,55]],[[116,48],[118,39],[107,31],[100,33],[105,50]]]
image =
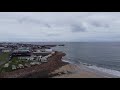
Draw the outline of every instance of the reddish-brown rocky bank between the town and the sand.
[[[0,78],[49,78],[51,77],[49,73],[68,64],[62,61],[63,56],[65,56],[65,53],[56,52],[53,56],[48,58],[47,63],[12,72],[0,73]]]

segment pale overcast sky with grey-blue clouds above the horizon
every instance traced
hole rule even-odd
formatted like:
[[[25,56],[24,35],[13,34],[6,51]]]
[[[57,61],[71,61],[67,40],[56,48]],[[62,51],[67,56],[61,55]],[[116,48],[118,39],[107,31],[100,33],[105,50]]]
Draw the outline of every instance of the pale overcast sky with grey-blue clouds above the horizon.
[[[120,41],[120,12],[0,12],[0,41]]]

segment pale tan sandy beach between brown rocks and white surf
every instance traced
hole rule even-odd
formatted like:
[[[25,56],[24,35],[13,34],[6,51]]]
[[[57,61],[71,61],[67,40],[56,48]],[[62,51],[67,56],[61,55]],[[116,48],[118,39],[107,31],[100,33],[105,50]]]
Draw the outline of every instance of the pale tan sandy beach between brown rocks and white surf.
[[[61,72],[65,72],[65,73],[61,74]],[[83,65],[78,67],[73,64],[62,66],[58,70],[52,72],[52,74],[56,74],[56,73],[58,73],[59,75],[54,76],[53,78],[115,78],[116,77],[113,75],[109,75],[107,73],[89,69]]]

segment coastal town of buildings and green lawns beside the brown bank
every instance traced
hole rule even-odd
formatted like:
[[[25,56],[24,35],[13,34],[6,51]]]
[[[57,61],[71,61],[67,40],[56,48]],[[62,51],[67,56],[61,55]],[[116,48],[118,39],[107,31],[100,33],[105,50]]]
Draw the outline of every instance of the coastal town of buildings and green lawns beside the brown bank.
[[[46,68],[46,70],[49,71],[49,68],[55,66],[53,63],[51,63],[51,67],[49,67],[49,58],[52,58],[51,61],[55,63],[55,60],[58,60],[59,58],[59,55],[57,54],[60,54],[60,52],[58,53],[52,49],[52,47],[55,46],[56,45],[0,43],[0,77],[11,77],[10,73],[17,71],[19,71],[21,74],[28,73],[32,70],[36,72],[38,69],[33,69],[35,66],[41,66],[40,69],[42,71],[45,71],[43,68]],[[59,60],[61,60],[62,56],[64,56],[63,53],[61,53]],[[43,65],[45,65],[45,67],[42,67]],[[17,75],[17,73],[12,74],[13,77],[15,77],[15,75]],[[25,75],[22,77],[25,77]]]

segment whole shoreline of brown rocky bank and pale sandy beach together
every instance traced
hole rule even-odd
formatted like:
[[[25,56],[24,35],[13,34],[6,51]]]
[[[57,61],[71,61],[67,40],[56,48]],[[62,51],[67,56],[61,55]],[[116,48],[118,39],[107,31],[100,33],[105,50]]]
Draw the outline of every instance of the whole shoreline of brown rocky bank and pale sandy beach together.
[[[65,55],[62,52],[56,52],[48,58],[47,63],[0,73],[0,78],[118,78],[84,64],[76,65],[62,60]]]

